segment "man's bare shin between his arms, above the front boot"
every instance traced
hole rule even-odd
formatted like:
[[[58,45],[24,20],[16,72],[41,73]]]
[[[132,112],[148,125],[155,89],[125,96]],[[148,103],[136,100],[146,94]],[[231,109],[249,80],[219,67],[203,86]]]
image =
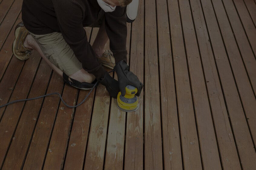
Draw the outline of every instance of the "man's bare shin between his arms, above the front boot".
[[[109,38],[105,29],[105,22],[103,22],[92,45],[97,57],[102,57],[108,40]]]

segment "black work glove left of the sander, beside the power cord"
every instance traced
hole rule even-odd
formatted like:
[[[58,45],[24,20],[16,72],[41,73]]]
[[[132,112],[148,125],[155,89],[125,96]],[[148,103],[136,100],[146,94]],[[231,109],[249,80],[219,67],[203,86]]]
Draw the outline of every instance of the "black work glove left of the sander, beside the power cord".
[[[117,98],[119,93],[118,81],[113,79],[108,73],[100,80],[100,83],[106,87],[109,95],[113,98]]]

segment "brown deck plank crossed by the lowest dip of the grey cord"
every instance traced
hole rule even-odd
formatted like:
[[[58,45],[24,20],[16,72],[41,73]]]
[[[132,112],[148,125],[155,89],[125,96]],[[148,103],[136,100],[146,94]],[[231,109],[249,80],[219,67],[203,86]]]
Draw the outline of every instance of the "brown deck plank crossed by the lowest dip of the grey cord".
[[[76,105],[77,94],[78,89],[65,84],[62,97],[68,105]],[[63,168],[74,112],[74,108],[69,108],[61,102],[48,146],[44,169]]]

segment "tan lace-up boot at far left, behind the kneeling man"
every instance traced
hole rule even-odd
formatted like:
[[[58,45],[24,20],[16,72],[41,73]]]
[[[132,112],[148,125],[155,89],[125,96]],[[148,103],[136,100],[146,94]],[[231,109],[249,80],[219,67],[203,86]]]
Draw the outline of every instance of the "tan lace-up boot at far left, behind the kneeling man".
[[[12,53],[20,60],[27,60],[31,55],[31,50],[25,48],[23,43],[26,36],[28,35],[28,30],[25,28],[23,22],[20,22],[15,27],[15,40],[12,44]]]

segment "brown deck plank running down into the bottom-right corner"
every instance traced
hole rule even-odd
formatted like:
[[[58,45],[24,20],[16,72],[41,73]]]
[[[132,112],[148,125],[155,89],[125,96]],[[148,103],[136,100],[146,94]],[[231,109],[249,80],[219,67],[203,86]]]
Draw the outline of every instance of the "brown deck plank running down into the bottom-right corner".
[[[253,168],[255,150],[211,1],[201,1],[242,168]],[[223,16],[222,16],[223,17]]]

